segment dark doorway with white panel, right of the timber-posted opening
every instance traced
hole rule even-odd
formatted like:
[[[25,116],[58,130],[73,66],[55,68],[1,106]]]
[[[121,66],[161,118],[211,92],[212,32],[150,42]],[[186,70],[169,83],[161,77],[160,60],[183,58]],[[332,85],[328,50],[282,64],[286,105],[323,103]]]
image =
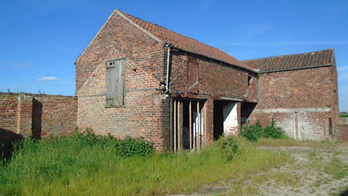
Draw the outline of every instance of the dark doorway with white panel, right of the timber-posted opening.
[[[234,134],[239,128],[237,103],[234,101],[214,101],[214,140],[218,140],[222,134]]]

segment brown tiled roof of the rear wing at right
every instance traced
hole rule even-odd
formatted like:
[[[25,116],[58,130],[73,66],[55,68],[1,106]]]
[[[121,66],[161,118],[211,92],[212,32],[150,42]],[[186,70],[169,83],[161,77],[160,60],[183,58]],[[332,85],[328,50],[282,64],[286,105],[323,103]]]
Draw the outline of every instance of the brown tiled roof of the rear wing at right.
[[[243,63],[252,68],[259,69],[261,72],[273,70],[291,70],[312,66],[333,65],[333,55],[333,49],[328,49],[302,54],[291,54],[262,59],[245,60],[243,61]]]

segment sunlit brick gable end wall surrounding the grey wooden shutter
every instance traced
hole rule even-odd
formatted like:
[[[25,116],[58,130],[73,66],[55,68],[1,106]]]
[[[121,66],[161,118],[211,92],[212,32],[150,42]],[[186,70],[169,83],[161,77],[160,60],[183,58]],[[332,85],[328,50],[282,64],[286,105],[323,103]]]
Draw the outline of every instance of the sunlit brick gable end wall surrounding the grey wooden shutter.
[[[144,137],[158,151],[169,146],[169,98],[156,91],[165,82],[164,43],[113,13],[76,61],[76,96],[80,128],[116,137]],[[125,63],[125,105],[106,108],[106,61]]]

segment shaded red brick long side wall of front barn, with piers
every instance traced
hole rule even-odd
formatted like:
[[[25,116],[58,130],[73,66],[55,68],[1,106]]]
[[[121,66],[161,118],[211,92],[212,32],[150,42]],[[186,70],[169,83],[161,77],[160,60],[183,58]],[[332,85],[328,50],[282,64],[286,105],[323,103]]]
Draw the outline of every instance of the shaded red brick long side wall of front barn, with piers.
[[[170,89],[172,91],[181,90],[182,95],[188,89],[188,59],[197,59],[199,64],[199,94],[206,95],[206,133],[208,144],[213,142],[213,100],[220,96],[230,98],[257,100],[257,78],[255,73],[229,66],[217,61],[211,61],[200,56],[185,52],[171,51],[171,77]],[[248,75],[252,76],[250,86],[248,86]],[[237,113],[239,125],[241,124],[241,103],[237,103]],[[237,132],[238,134],[239,132]]]

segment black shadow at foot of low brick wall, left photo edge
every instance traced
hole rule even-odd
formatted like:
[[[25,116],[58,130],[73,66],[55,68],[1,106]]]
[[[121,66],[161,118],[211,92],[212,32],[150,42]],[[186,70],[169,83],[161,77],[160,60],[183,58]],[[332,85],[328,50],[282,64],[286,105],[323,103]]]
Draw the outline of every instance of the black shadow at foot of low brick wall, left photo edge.
[[[0,128],[0,162],[8,160],[12,156],[14,150],[13,142],[22,139],[22,135]]]

